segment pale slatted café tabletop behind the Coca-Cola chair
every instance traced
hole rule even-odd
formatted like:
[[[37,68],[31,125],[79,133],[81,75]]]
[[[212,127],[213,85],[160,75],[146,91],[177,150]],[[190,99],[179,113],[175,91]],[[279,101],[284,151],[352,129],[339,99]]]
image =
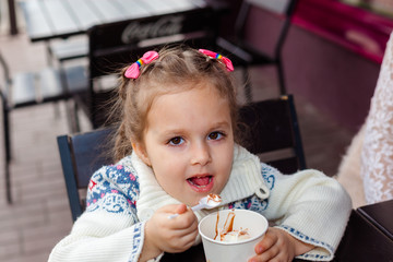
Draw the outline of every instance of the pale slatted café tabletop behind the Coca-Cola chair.
[[[85,34],[93,25],[211,8],[204,0],[21,0],[31,41]]]

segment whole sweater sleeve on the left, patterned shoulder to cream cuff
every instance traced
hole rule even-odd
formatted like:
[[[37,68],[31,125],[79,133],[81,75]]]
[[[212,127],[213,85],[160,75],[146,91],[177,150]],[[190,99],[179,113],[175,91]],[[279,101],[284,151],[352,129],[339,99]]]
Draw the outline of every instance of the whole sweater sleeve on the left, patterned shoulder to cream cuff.
[[[96,171],[87,190],[86,212],[53,248],[49,262],[136,262],[145,224],[136,217],[138,192],[138,178],[127,167],[116,165]]]

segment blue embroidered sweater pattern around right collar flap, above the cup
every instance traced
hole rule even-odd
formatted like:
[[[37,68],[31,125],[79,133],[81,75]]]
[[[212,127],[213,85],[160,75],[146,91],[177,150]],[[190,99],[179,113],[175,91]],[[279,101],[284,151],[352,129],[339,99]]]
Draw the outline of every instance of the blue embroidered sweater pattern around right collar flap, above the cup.
[[[265,181],[265,184],[269,188],[269,190],[273,190],[276,179],[274,174],[277,172],[277,170],[266,164],[262,163],[261,165],[262,165],[261,175]],[[267,206],[269,206],[269,199],[261,201],[261,199],[258,198],[257,195],[252,195],[241,201],[236,201],[228,204],[228,209],[251,210],[258,213],[265,211]]]

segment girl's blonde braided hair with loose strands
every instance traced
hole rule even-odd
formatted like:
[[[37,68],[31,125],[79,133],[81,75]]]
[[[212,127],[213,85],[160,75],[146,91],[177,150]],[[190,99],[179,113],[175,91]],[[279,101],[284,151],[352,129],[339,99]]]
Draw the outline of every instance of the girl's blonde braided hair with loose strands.
[[[111,116],[118,119],[115,135],[114,158],[119,160],[131,154],[132,143],[142,143],[147,114],[154,99],[200,87],[204,83],[214,86],[229,104],[233,127],[236,129],[237,102],[234,79],[219,59],[214,59],[186,46],[164,48],[158,59],[140,68],[138,79],[121,72],[119,99]]]

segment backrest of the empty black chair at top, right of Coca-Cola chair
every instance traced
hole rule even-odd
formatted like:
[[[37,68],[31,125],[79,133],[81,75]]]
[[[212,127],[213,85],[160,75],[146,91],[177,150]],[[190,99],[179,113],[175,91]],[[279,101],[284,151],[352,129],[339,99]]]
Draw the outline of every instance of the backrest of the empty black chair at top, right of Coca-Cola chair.
[[[276,14],[283,17],[283,23],[278,27],[278,36],[274,41],[275,45],[273,56],[277,58],[289,29],[290,20],[295,12],[297,1],[298,0],[243,0],[235,24],[235,36],[237,40],[242,43],[245,46],[248,45],[247,40],[245,39],[245,32],[246,26],[248,26],[247,21],[252,8],[262,9],[270,13]]]

